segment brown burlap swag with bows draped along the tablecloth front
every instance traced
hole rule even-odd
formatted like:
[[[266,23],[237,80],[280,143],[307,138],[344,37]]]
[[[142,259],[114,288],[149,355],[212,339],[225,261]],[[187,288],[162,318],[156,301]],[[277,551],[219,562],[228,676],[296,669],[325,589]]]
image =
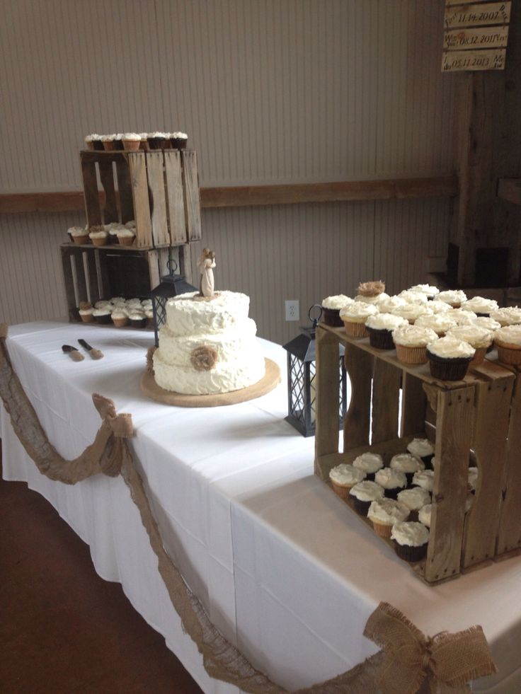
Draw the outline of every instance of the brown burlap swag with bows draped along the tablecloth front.
[[[142,478],[127,444],[133,435],[132,416],[118,415],[112,400],[93,395],[101,427],[93,444],[81,456],[65,460],[47,439],[13,371],[6,337],[7,326],[3,323],[0,325],[0,397],[18,439],[40,473],[69,485],[100,473],[110,477],[121,475],[139,510],[173,607],[181,617],[183,629],[197,644],[207,673],[251,694],[287,694],[287,690],[254,669],[217,631],[164,550]],[[380,603],[367,622],[365,636],[383,650],[350,671],[295,694],[377,694],[379,691],[457,694],[469,690],[466,686],[469,680],[496,671],[481,627],[427,639],[399,611]]]

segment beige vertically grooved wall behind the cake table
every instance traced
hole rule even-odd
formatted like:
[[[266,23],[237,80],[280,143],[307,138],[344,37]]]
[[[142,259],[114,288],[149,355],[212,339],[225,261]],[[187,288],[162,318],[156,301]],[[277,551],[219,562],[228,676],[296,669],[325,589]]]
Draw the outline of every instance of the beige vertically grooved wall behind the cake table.
[[[443,175],[453,76],[441,0],[17,0],[0,25],[1,192],[74,190],[89,132],[183,129],[200,185]],[[394,291],[445,255],[447,199],[205,210],[220,287],[283,341],[360,279]],[[81,214],[0,216],[0,319],[64,315],[58,245]],[[25,273],[29,273],[28,283]],[[270,277],[270,281],[267,280]]]

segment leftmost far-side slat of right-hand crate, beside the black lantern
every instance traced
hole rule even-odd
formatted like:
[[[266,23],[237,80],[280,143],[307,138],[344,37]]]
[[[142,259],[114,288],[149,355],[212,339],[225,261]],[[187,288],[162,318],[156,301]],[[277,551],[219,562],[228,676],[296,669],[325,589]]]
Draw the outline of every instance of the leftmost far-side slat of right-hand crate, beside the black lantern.
[[[344,451],[349,451],[369,444],[373,357],[346,343],[344,363],[351,382],[351,401],[344,416]]]

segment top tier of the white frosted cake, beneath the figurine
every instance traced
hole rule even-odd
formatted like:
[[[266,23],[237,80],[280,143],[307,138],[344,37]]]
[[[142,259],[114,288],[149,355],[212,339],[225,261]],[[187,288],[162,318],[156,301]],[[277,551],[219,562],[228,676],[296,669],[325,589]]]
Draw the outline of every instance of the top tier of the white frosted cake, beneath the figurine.
[[[173,335],[202,335],[238,328],[248,318],[250,298],[236,291],[219,291],[212,299],[197,292],[166,303],[166,322]]]

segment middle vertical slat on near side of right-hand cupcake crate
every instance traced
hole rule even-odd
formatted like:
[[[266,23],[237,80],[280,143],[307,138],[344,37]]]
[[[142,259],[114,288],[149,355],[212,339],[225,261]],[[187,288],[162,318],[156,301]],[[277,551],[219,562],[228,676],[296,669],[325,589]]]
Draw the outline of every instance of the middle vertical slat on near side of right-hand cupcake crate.
[[[510,374],[477,386],[472,449],[479,477],[474,503],[465,518],[462,554],[465,568],[496,554],[513,380]]]

